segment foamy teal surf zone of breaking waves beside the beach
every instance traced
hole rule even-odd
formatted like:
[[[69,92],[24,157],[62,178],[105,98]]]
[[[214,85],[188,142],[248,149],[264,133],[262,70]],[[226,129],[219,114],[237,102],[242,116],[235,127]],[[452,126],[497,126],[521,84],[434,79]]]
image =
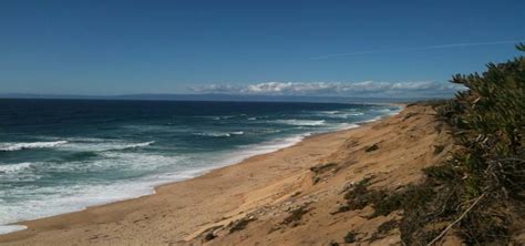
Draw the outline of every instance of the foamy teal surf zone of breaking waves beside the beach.
[[[11,184],[11,182],[12,184],[17,184],[17,182],[28,184],[9,191],[10,194],[7,197],[16,197],[13,203],[0,201],[0,234],[23,229],[23,227],[4,226],[6,224],[80,211],[86,206],[152,194],[154,193],[153,187],[159,184],[187,180],[219,166],[238,163],[257,154],[265,154],[294,145],[310,134],[301,132],[317,133],[340,127],[357,127],[357,125],[350,123],[352,121],[334,119],[348,114],[362,113],[359,111],[333,110],[326,113],[315,111],[306,114],[301,112],[297,116],[289,116],[290,114],[286,113],[269,115],[212,115],[206,116],[198,124],[194,124],[195,120],[188,121],[187,124],[186,122],[182,124],[176,121],[177,126],[173,127],[169,124],[164,125],[162,122],[155,122],[152,125],[122,125],[117,127],[119,131],[103,132],[103,135],[100,132],[86,134],[86,136],[94,136],[94,139],[75,135],[38,139],[34,140],[35,143],[16,143],[16,141],[4,145],[0,143],[0,151],[56,147],[63,144],[59,148],[60,153],[50,156],[50,158],[40,160],[42,157],[40,154],[42,153],[34,153],[39,155],[29,156],[29,154],[33,153],[29,151],[28,153],[18,152],[16,154],[20,153],[23,155],[20,157],[39,157],[39,161],[20,160],[14,162],[16,164],[2,163],[0,165],[0,180],[2,182],[7,181],[7,184]],[[212,121],[214,116],[216,120],[223,121]],[[241,121],[251,123],[253,127],[249,132],[248,130],[245,130],[245,132],[236,131],[244,130],[237,127]],[[342,124],[342,122],[349,123]],[[217,126],[216,123],[220,123],[219,127],[226,126],[228,129],[215,129]],[[299,131],[301,126],[305,129],[303,131]],[[299,132],[301,134],[290,135],[291,133],[289,132]],[[173,134],[173,143],[169,142],[172,135],[167,135],[167,133],[176,133]],[[246,141],[229,141],[231,145],[227,143],[228,145],[220,146],[217,150],[213,148],[212,145],[209,151],[207,151],[208,148],[199,148],[200,146],[197,146],[193,151],[191,147],[194,145],[188,145],[188,148],[185,148],[186,146],[179,147],[185,143],[184,141],[186,141],[188,134],[203,136],[198,139],[199,143],[213,143],[214,140],[236,140],[236,137],[246,139]],[[96,136],[100,136],[100,139],[96,139]],[[177,139],[179,136],[182,139]],[[247,136],[254,136],[254,139]],[[144,140],[135,137],[155,139]],[[195,136],[195,139],[197,137]],[[189,140],[195,141],[195,139],[192,140],[191,137]],[[154,141],[150,140],[156,140],[158,143],[162,142],[162,144],[155,144]],[[268,141],[254,143],[261,140]],[[245,142],[246,145],[239,146],[239,144]],[[151,145],[159,146],[158,148],[150,150],[153,148],[147,147]],[[24,163],[28,161],[33,163]],[[50,176],[50,174],[60,175]],[[76,180],[76,175],[82,178]],[[48,183],[43,184],[44,182],[38,181],[42,177],[64,177],[64,181],[68,182],[48,185]],[[91,177],[94,178],[91,180]],[[38,182],[30,183],[29,181]],[[38,207],[38,209],[34,209],[34,207]]]

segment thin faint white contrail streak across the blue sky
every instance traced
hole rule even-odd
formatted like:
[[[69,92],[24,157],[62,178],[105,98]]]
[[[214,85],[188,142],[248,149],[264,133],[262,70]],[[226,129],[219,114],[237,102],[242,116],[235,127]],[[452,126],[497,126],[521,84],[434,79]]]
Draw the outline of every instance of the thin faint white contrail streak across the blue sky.
[[[400,49],[389,49],[389,50],[368,50],[368,51],[356,51],[356,52],[349,52],[349,53],[320,55],[320,57],[310,58],[310,60],[323,60],[323,59],[338,58],[338,57],[351,57],[351,55],[356,55],[356,54],[378,54],[378,53],[387,53],[387,52],[436,50],[436,49],[447,49],[447,48],[459,48],[459,47],[497,45],[497,44],[508,44],[508,43],[519,43],[519,42],[522,42],[522,40],[480,42],[480,43],[449,43],[449,44],[400,48]]]

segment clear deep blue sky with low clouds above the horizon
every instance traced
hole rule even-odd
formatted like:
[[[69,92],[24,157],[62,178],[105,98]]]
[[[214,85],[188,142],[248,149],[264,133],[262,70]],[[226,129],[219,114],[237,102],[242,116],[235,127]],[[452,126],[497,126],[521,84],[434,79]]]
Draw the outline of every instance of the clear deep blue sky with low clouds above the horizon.
[[[0,1],[0,93],[451,94],[525,1]]]

